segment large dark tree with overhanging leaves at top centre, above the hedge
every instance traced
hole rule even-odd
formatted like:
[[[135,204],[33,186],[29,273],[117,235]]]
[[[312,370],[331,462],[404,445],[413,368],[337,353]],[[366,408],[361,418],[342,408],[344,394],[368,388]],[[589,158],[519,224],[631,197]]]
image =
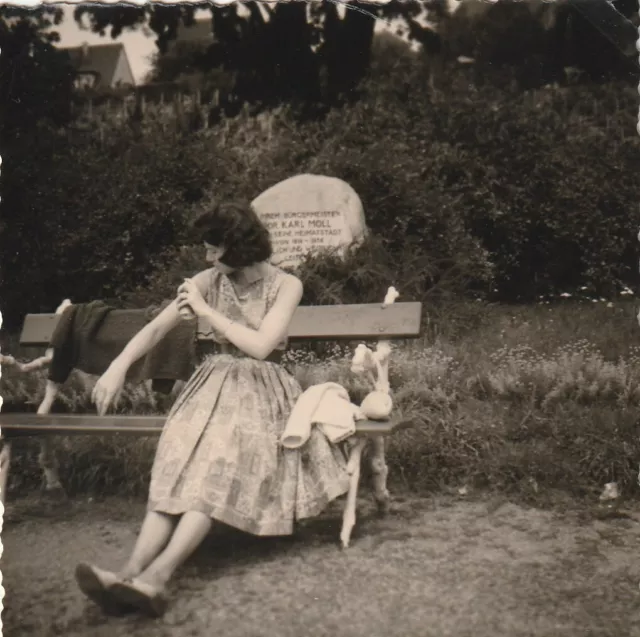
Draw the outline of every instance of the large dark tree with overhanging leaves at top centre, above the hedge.
[[[342,18],[330,2],[147,5],[117,11],[83,6],[76,18],[88,16],[95,32],[109,30],[112,37],[144,24],[156,34],[163,55],[178,28],[192,25],[197,10],[209,9],[214,41],[204,54],[187,56],[183,62],[196,72],[224,70],[240,102],[314,102],[321,96],[348,95],[367,70],[375,18],[384,10],[368,3],[350,4],[353,8]],[[415,12],[417,7],[411,0],[402,11]],[[157,71],[158,81],[175,80],[183,72],[171,64],[160,64]]]

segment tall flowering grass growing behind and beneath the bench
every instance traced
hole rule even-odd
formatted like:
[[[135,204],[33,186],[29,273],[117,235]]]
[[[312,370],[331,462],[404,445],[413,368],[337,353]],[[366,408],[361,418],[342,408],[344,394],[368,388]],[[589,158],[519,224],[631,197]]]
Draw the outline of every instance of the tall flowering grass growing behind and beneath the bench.
[[[640,328],[633,302],[563,300],[535,306],[482,303],[427,308],[425,336],[396,345],[396,416],[411,429],[389,439],[390,479],[416,492],[492,489],[536,499],[562,489],[592,497],[618,482],[637,494]],[[349,371],[353,348],[290,353],[303,387],[332,380],[355,402],[368,387]],[[35,409],[43,375],[3,370],[6,410]],[[74,374],[58,409],[88,412],[93,380]],[[128,387],[118,411],[166,413],[172,397]],[[72,493],[143,495],[155,439],[61,438]],[[37,443],[15,444],[10,489],[39,484]]]

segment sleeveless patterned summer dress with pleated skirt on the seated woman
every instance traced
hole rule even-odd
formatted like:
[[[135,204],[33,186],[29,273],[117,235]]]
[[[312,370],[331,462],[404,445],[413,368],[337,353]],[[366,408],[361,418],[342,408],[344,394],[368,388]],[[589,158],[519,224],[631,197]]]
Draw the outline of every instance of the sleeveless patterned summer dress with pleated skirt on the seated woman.
[[[286,276],[268,263],[246,269],[242,286],[216,268],[209,273],[207,303],[253,329]],[[289,535],[295,520],[347,492],[345,455],[318,428],[301,449],[283,448],[280,435],[302,393],[297,381],[277,362],[225,343],[208,324],[198,332],[199,341],[214,341],[225,353],[204,356],[169,413],[148,508],[200,511],[255,535]]]

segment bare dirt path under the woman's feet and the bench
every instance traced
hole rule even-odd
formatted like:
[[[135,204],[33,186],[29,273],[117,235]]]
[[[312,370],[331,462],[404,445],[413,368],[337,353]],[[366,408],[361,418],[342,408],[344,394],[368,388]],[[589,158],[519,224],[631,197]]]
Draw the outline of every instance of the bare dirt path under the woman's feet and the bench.
[[[363,501],[339,550],[332,508],[293,538],[224,529],[181,571],[161,620],[105,618],[73,581],[79,560],[116,566],[143,507],[13,503],[3,529],[3,634],[160,637],[640,636],[640,506],[527,509],[495,500]]]

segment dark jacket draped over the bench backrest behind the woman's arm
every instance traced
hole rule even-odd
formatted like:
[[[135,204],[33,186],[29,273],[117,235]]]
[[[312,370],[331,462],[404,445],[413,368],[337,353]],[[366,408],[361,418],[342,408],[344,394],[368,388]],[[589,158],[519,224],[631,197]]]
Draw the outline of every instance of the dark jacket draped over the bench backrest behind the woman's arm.
[[[50,347],[49,380],[64,383],[73,369],[103,374],[125,345],[162,309],[118,310],[102,301],[69,306],[60,316]],[[153,380],[168,392],[176,380],[188,380],[196,365],[197,321],[183,321],[129,369],[127,380]]]

